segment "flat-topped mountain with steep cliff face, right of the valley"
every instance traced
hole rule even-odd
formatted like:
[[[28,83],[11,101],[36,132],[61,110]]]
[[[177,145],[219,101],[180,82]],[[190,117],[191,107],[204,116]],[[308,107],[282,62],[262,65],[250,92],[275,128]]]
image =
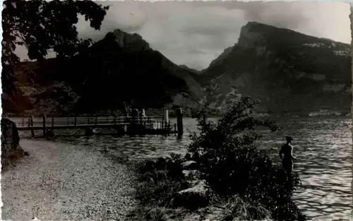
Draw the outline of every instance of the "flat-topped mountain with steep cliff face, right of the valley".
[[[249,22],[201,84],[205,102],[219,110],[249,95],[261,101],[261,113],[349,112],[350,45]]]

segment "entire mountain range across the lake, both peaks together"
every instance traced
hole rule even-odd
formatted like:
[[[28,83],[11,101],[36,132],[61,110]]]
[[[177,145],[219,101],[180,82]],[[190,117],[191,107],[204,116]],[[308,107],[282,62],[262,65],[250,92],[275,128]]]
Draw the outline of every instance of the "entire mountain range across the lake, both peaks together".
[[[349,53],[349,44],[250,22],[237,44],[196,71],[172,63],[140,35],[115,30],[71,59],[24,62],[32,74],[16,72],[18,92],[3,94],[3,109],[92,114],[126,101],[156,109],[207,104],[222,112],[249,95],[261,101],[260,113],[349,112]]]

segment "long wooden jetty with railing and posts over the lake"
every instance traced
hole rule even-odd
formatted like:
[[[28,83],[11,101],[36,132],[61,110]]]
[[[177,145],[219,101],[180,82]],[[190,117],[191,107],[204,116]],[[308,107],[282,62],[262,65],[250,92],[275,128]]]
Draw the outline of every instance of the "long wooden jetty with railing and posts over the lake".
[[[11,118],[18,131],[42,131],[43,136],[53,136],[54,130],[85,129],[86,136],[95,134],[96,129],[114,129],[119,135],[145,135],[145,134],[178,134],[184,132],[181,109],[177,109],[177,123],[171,124],[168,110],[161,116],[144,116],[135,109],[133,116],[94,116],[94,117],[28,117]]]

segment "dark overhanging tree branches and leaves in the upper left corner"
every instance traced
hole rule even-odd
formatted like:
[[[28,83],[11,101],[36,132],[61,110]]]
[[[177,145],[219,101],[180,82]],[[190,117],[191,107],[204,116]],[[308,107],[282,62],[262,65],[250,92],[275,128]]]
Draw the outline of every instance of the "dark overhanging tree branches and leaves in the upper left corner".
[[[87,48],[92,41],[78,38],[78,15],[85,16],[90,26],[100,30],[109,6],[93,1],[4,1],[2,12],[1,81],[4,91],[13,92],[14,70],[22,68],[14,50],[18,45],[28,49],[32,60],[42,61],[52,50],[59,58],[70,57]],[[24,70],[30,72],[30,70]]]

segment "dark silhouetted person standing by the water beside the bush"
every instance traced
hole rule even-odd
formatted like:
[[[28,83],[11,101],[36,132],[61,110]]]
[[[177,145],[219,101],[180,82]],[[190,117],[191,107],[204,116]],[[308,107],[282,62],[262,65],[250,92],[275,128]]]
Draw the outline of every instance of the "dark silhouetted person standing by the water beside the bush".
[[[297,160],[297,158],[293,156],[293,147],[291,145],[292,140],[293,138],[291,138],[290,136],[286,136],[287,143],[285,145],[282,145],[282,148],[280,150],[282,166],[286,171],[289,184],[292,180],[293,160]]]

